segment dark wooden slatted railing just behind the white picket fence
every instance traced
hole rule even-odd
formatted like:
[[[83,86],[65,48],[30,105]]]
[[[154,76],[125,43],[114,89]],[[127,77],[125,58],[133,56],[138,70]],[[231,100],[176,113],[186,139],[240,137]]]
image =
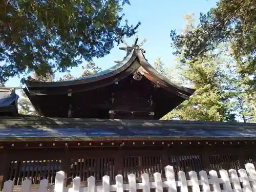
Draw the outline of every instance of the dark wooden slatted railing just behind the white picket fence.
[[[80,151],[82,154],[82,151]],[[137,180],[141,180],[141,174],[147,173],[150,178],[153,174],[159,172],[165,177],[164,167],[172,165],[175,169],[175,174],[180,170],[186,173],[190,170],[199,172],[200,170],[221,170],[221,169],[239,169],[243,168],[245,163],[253,163],[256,166],[256,156],[252,152],[239,154],[209,154],[198,153],[190,155],[170,155],[164,153],[140,153],[137,151],[136,155],[122,153],[110,153],[112,156],[100,154],[95,158],[70,158],[65,159],[68,168],[65,172],[67,177],[71,178],[67,181],[67,185],[72,182],[72,178],[79,176],[81,182],[86,183],[87,178],[94,176],[97,182],[102,180],[104,175],[109,175],[111,181],[115,180],[117,174],[123,175],[123,180],[127,181],[127,175],[133,173],[136,175]],[[161,155],[162,154],[162,155]],[[47,154],[46,154],[47,156]],[[11,160],[9,166],[9,175],[5,177],[6,180],[13,180],[15,186],[22,184],[25,179],[30,179],[32,185],[38,185],[41,179],[48,179],[50,183],[54,183],[56,172],[61,170],[63,159],[50,159],[50,160]],[[178,178],[177,178],[178,179]]]

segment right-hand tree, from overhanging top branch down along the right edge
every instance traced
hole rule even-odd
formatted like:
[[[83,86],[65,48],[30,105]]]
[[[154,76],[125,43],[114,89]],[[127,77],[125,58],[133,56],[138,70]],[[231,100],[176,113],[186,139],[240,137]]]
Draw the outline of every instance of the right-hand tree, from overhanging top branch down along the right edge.
[[[175,30],[170,33],[174,54],[182,54],[184,61],[197,62],[201,56],[218,50],[221,43],[228,44],[227,52],[234,59],[237,75],[236,98],[244,100],[244,104],[237,104],[246,109],[250,120],[256,119],[255,6],[255,0],[221,0],[216,8],[201,14],[198,27],[183,34]]]

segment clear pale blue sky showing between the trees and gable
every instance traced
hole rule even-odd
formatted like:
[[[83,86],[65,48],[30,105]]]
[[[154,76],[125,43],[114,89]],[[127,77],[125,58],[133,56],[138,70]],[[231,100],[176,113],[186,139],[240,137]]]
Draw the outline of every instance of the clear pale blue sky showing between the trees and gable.
[[[199,18],[200,12],[206,13],[211,7],[216,6],[216,0],[130,0],[131,6],[125,6],[123,12],[125,19],[129,20],[130,24],[136,25],[141,22],[138,30],[139,43],[146,38],[147,41],[143,45],[146,51],[145,57],[153,65],[154,61],[160,57],[166,67],[174,64],[175,57],[173,49],[170,47],[169,33],[171,29],[178,31],[185,26],[183,16],[185,14],[194,13],[195,20]],[[135,37],[125,39],[131,45]],[[104,58],[94,59],[96,65],[103,70],[115,65],[115,59],[122,59],[124,51],[115,47],[111,54]],[[84,63],[85,65],[86,63]],[[81,65],[82,66],[82,65]],[[81,66],[73,68],[71,74],[79,76],[82,72]],[[56,76],[61,77],[63,73],[58,73]],[[22,77],[20,77],[22,78]],[[11,78],[6,86],[20,86],[20,78]]]

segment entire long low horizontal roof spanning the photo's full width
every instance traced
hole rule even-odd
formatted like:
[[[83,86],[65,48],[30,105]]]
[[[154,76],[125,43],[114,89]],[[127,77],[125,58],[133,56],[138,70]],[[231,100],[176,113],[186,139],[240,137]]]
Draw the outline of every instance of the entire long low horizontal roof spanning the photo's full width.
[[[2,117],[0,141],[255,140],[256,123]]]

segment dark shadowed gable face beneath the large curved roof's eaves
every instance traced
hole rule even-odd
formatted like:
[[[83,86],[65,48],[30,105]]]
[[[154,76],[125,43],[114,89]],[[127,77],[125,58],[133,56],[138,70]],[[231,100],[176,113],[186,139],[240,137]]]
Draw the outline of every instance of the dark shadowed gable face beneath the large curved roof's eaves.
[[[94,90],[81,92],[73,90],[71,96],[69,94],[40,96],[29,94],[29,98],[36,110],[40,112],[39,114],[46,117],[68,117],[68,111],[72,106],[71,117],[110,118],[110,110],[121,110],[139,113],[154,112],[153,119],[160,119],[185,100],[165,89],[157,88],[147,78],[136,81],[133,75],[121,79],[118,84],[111,83],[105,87],[103,83],[98,85],[101,87]],[[81,88],[84,89],[84,87]],[[154,103],[152,106],[149,102],[150,97]],[[113,102],[111,99],[114,99]]]

